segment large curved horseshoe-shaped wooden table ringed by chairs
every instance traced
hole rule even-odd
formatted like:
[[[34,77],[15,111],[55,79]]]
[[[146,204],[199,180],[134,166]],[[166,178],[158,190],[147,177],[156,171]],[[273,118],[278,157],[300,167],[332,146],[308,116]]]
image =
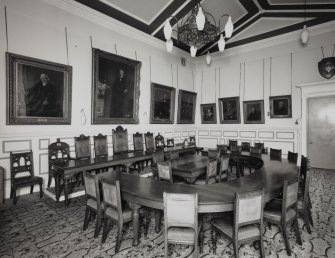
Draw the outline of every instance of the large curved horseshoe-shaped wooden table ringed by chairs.
[[[134,242],[139,244],[139,208],[142,206],[158,210],[164,209],[163,193],[198,193],[198,212],[212,213],[233,210],[235,192],[247,192],[264,188],[265,202],[279,195],[284,180],[291,180],[298,175],[298,166],[286,159],[270,160],[267,155],[253,157],[239,155],[240,159],[261,159],[263,166],[255,173],[235,180],[211,185],[173,184],[151,178],[115,172],[106,181],[119,180],[122,199],[126,200],[133,210]]]

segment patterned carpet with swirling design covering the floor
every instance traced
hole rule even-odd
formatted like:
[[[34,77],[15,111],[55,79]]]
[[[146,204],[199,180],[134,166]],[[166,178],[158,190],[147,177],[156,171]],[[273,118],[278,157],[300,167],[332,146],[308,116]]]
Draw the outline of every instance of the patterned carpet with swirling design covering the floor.
[[[296,244],[294,231],[290,228],[291,257],[335,257],[335,172],[313,169],[311,182],[314,228],[306,231],[299,219],[303,245]],[[7,201],[0,207],[0,257],[164,257],[163,233],[154,231],[152,216],[149,233],[143,234],[140,245],[132,247],[131,224],[126,228],[120,252],[115,254],[116,227],[109,233],[105,244],[94,239],[94,223],[83,232],[84,197],[74,199],[65,209],[63,203],[38,194],[20,197],[12,206]],[[209,220],[206,217],[206,221]],[[204,225],[204,252],[200,257],[233,257],[231,242],[220,236],[217,254],[213,254],[210,226]],[[276,226],[265,228],[264,245],[266,257],[287,257],[283,238]],[[170,257],[193,257],[193,248],[170,245]],[[239,249],[240,257],[259,257],[259,250],[252,243]]]

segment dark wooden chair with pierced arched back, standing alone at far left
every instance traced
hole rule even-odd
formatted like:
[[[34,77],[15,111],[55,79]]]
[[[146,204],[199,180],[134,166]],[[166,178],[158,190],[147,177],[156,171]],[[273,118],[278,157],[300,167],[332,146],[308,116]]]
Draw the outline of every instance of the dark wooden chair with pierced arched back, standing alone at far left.
[[[34,175],[33,152],[10,152],[10,174],[11,191],[10,198],[16,204],[16,190],[18,188],[30,186],[30,194],[34,192],[34,186],[40,185],[40,198],[43,196],[43,178]]]

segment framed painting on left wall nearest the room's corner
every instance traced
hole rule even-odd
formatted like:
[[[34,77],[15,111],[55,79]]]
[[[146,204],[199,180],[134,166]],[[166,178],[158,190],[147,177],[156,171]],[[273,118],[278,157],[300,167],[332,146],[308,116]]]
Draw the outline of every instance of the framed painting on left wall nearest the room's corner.
[[[179,90],[178,95],[178,124],[194,124],[197,93]]]

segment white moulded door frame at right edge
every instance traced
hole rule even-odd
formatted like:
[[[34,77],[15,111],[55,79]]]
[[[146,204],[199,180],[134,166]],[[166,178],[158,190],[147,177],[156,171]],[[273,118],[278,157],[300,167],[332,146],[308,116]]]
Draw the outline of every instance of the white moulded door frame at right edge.
[[[301,90],[301,139],[300,150],[301,154],[307,156],[308,143],[308,99],[317,97],[327,97],[335,95],[335,80],[323,81],[317,83],[301,84],[296,87]]]

